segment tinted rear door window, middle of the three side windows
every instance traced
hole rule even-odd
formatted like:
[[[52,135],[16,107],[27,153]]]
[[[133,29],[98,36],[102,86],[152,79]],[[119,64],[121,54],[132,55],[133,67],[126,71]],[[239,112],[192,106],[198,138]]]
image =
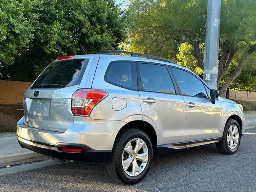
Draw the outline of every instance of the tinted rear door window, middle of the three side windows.
[[[139,64],[142,90],[175,93],[172,79],[165,66]]]

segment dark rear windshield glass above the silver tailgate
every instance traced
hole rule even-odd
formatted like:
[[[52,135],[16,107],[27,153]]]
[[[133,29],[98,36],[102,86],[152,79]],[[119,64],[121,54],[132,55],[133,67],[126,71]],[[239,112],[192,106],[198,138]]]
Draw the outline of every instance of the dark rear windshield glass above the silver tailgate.
[[[31,88],[63,88],[80,84],[88,61],[89,59],[71,59],[53,62]]]

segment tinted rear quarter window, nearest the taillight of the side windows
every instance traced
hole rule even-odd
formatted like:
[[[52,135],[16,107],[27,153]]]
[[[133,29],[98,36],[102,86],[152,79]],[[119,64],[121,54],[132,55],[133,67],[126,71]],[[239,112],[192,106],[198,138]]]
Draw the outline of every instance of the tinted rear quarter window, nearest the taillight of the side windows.
[[[135,62],[111,62],[108,66],[105,80],[106,82],[117,86],[137,90],[137,74]]]

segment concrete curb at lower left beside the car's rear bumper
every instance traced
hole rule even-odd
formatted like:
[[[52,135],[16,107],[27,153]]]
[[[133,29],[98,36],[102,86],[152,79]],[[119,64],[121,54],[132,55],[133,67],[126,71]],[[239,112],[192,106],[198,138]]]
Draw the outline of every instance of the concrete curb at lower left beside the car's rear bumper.
[[[15,156],[1,157],[0,167],[4,167],[6,165],[16,165],[21,163],[39,161],[47,158],[49,157],[42,154],[35,153],[35,152],[31,152],[27,154],[15,154]]]

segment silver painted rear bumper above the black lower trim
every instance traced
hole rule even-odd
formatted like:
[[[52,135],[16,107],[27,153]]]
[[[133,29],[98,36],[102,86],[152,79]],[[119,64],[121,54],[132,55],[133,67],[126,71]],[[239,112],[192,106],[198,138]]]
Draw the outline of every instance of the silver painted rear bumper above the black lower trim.
[[[27,126],[22,117],[17,124],[17,136],[49,146],[85,145],[95,151],[111,151],[118,131],[126,123],[114,120],[94,120],[90,117],[75,117],[74,123],[64,132],[51,128]]]

